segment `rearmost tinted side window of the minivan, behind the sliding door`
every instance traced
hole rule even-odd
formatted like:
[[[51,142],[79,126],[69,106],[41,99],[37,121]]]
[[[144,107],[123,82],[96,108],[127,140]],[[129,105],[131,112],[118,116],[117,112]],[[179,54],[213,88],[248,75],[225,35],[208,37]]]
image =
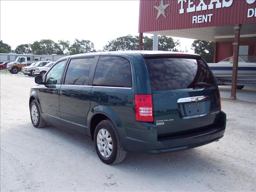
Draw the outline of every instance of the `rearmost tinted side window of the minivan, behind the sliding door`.
[[[132,87],[130,63],[122,57],[101,56],[95,70],[93,84]]]

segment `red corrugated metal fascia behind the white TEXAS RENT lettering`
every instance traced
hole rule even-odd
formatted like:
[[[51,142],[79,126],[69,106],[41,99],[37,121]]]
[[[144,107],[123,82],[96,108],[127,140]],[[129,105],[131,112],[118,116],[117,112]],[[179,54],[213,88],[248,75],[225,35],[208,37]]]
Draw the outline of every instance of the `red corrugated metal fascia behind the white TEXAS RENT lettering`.
[[[226,0],[228,1],[228,0]],[[256,23],[256,17],[247,18],[248,8],[255,8],[256,2],[248,4],[245,0],[233,0],[230,7],[215,8],[196,12],[186,12],[188,2],[183,3],[184,13],[180,14],[180,6],[178,0],[163,0],[164,5],[170,4],[166,9],[166,19],[162,15],[156,20],[154,18],[158,10],[154,6],[160,5],[160,0],[140,0],[140,15],[139,15],[139,32],[153,32],[161,30],[199,28],[209,26],[225,26],[234,24]],[[199,0],[192,1],[193,5],[198,5]],[[210,0],[204,0],[205,4],[210,4]],[[222,2],[222,0],[220,0]],[[192,5],[192,6],[193,6]],[[213,14],[211,22],[192,24],[192,16]],[[162,21],[159,21],[162,20]]]

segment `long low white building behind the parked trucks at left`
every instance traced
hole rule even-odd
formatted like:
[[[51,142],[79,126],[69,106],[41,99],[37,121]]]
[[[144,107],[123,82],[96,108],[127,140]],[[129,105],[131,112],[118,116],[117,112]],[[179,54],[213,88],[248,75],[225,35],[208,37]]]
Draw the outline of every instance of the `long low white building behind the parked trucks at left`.
[[[26,56],[28,63],[34,63],[38,61],[57,61],[58,59],[65,57],[66,55],[33,55],[33,54],[16,54],[16,53],[0,53],[0,61],[5,62],[14,62],[17,57]]]

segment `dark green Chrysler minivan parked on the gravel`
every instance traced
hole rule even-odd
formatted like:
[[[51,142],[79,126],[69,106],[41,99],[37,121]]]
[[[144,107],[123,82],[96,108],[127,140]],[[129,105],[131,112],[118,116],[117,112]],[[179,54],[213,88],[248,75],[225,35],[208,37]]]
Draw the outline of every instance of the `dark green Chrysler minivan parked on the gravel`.
[[[197,55],[72,55],[35,82],[29,100],[32,124],[90,136],[106,164],[122,162],[127,151],[162,153],[202,146],[225,132],[216,80]]]

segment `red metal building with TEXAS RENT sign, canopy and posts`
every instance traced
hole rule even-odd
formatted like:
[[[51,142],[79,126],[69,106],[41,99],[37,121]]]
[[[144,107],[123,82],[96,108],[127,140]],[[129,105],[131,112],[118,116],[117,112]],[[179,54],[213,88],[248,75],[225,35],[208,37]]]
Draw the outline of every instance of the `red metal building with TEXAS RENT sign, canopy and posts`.
[[[140,0],[139,32],[140,50],[143,33],[214,42],[214,62],[234,56],[235,99],[239,51],[256,56],[256,0]]]

